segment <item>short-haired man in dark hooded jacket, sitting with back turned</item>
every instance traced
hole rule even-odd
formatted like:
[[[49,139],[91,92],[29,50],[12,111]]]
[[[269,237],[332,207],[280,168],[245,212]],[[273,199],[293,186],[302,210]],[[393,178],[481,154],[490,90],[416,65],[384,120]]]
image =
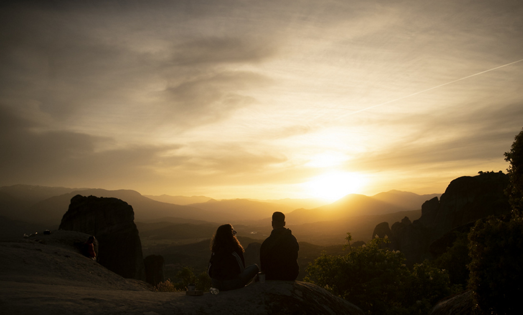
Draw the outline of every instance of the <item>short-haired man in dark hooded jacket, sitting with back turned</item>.
[[[260,248],[261,271],[267,280],[294,281],[300,273],[300,246],[290,229],[285,228],[285,214],[272,214],[272,232]]]

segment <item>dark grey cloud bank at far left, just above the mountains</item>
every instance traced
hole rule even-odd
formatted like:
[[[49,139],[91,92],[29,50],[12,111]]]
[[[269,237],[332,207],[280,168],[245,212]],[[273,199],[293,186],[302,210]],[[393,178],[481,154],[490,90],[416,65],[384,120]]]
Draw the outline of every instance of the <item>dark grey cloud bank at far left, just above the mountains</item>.
[[[140,182],[153,176],[151,167],[162,163],[173,167],[184,157],[163,159],[180,148],[170,146],[134,146],[118,148],[108,137],[69,131],[33,131],[35,124],[0,107],[2,117],[10,122],[0,129],[0,169],[2,184],[12,182]],[[100,150],[100,147],[115,146]]]

